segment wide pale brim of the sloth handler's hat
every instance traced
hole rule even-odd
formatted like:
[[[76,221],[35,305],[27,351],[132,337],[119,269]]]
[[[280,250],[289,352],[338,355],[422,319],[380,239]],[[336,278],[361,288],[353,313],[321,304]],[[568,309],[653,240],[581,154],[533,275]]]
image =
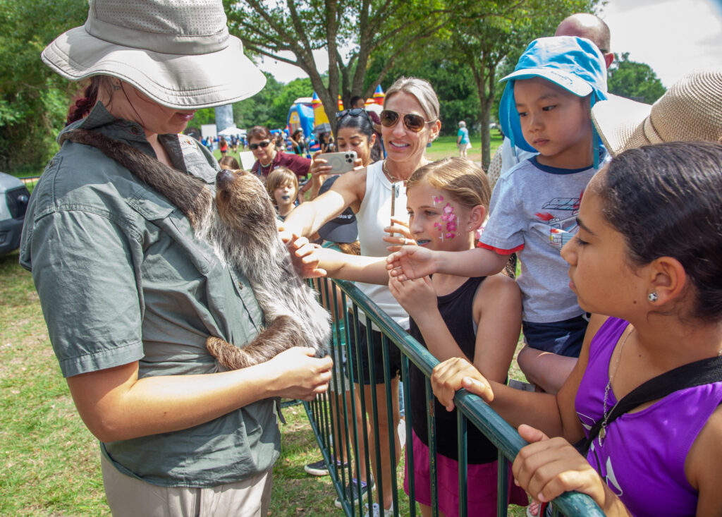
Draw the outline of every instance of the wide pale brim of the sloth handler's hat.
[[[266,77],[245,56],[235,36],[221,51],[189,56],[109,43],[76,27],[53,40],[42,57],[71,81],[95,75],[118,77],[157,103],[180,110],[237,103],[266,84]]]

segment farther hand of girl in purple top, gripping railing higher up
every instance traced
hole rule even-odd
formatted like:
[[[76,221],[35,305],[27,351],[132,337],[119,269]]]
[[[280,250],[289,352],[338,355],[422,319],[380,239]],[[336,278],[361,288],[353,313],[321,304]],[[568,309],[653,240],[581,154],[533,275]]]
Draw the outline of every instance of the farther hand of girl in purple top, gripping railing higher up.
[[[462,357],[451,357],[435,366],[431,373],[431,388],[446,411],[453,411],[453,396],[461,388],[480,396],[484,401],[494,400],[494,392],[477,367]]]

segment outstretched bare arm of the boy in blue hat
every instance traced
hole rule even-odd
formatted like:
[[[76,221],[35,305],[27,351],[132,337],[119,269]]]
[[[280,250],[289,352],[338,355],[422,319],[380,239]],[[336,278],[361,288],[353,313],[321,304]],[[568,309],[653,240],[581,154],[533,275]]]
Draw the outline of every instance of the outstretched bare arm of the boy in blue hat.
[[[486,248],[466,251],[432,251],[419,246],[404,246],[386,259],[392,277],[414,279],[428,274],[455,274],[458,277],[490,277],[500,273],[509,261]]]

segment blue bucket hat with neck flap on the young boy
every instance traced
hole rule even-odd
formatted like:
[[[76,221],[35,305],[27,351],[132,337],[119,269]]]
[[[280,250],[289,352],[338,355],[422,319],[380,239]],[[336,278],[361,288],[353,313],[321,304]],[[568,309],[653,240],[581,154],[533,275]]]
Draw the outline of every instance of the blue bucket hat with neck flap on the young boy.
[[[599,48],[586,38],[554,36],[539,38],[526,47],[514,71],[501,79],[506,87],[499,104],[499,121],[513,147],[536,152],[521,133],[519,113],[514,102],[515,79],[541,77],[568,92],[586,97],[591,94],[591,106],[606,100],[606,63]],[[590,107],[591,107],[590,106]],[[594,132],[594,166],[599,166],[599,135]]]

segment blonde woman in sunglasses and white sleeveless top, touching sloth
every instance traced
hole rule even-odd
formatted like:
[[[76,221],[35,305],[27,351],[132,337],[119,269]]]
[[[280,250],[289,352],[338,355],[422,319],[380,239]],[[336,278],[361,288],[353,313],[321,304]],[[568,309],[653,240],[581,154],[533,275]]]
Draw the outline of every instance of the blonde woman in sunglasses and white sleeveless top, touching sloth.
[[[386,160],[375,162],[367,168],[352,170],[339,177],[331,190],[318,196],[313,201],[297,207],[284,222],[287,234],[308,237],[316,233],[319,227],[338,214],[351,207],[356,214],[361,243],[361,254],[367,256],[387,256],[389,243],[399,245],[406,243],[409,237],[408,228],[392,226],[393,214],[406,224],[406,188],[404,182],[414,170],[428,162],[425,152],[426,145],[435,139],[441,128],[439,121],[439,101],[431,84],[423,79],[401,77],[386,92],[386,99],[381,112],[381,134],[386,144],[388,156]],[[393,204],[392,204],[393,194]],[[385,233],[390,235],[385,235]],[[405,233],[404,233],[405,232]],[[300,246],[303,240],[295,244]],[[382,310],[391,316],[402,328],[409,328],[409,316],[404,312],[386,285],[373,285],[357,282],[357,287],[370,297]],[[365,327],[360,327],[360,342],[365,343]],[[401,448],[395,433],[399,424],[399,378],[401,371],[401,352],[393,344],[389,347],[391,356],[391,400],[393,401],[393,422],[388,422],[386,410],[386,392],[384,387],[383,363],[381,362],[381,334],[372,331],[375,347],[376,378],[368,378],[368,357],[364,352],[361,357],[362,370],[365,378],[354,379],[363,384],[365,400],[370,401],[375,394],[378,401],[379,436],[378,443],[370,443],[371,450],[378,446],[381,456],[383,473],[383,508],[375,508],[378,513],[386,513],[391,508],[391,476],[395,475],[396,463],[399,461]],[[370,409],[370,404],[368,404]],[[390,437],[395,441],[396,456],[391,457]],[[371,458],[374,458],[371,454]],[[372,461],[375,479],[378,479],[378,466]],[[393,474],[392,474],[393,472]],[[371,513],[373,516],[373,513]]]

